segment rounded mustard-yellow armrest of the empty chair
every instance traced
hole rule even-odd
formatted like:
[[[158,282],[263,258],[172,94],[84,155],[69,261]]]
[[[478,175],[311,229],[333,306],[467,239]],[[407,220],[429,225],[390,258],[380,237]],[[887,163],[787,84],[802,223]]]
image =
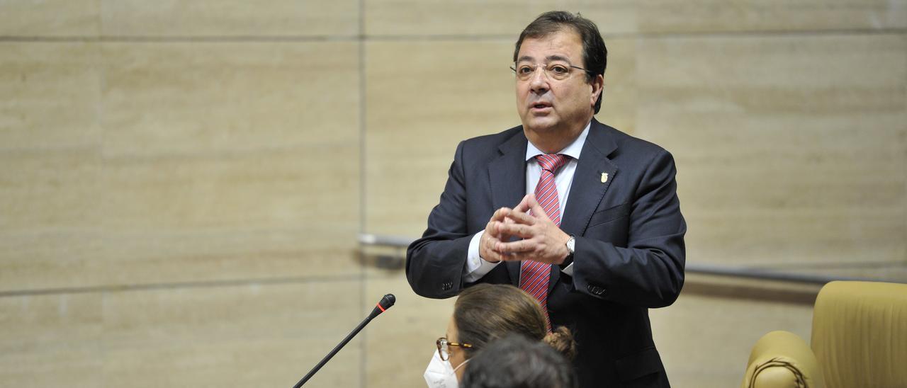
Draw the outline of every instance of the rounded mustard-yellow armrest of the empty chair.
[[[824,388],[809,345],[785,331],[763,335],[753,346],[741,388]]]

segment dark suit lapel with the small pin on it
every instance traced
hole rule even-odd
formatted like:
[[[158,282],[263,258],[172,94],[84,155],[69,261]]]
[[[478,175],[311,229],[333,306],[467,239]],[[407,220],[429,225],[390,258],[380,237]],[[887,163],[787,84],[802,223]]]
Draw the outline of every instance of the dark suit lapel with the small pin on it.
[[[605,196],[618,167],[608,160],[611,152],[617,149],[615,143],[608,136],[608,131],[599,121],[592,119],[589,136],[582,146],[580,160],[573,172],[570,196],[567,198],[567,207],[561,216],[561,230],[568,235],[582,236],[589,225],[592,213],[599,207],[601,199]],[[602,173],[608,174],[608,179],[602,182]],[[548,291],[561,277],[561,271],[551,267],[551,282]]]

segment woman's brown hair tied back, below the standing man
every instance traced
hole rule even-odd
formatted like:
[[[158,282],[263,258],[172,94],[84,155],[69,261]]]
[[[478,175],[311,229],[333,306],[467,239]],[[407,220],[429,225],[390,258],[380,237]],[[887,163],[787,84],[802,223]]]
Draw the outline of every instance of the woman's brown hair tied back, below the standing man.
[[[570,330],[558,327],[549,333],[539,302],[515,286],[480,284],[466,288],[453,305],[453,323],[457,341],[473,345],[463,348],[467,359],[486,344],[509,334],[543,341],[570,359],[576,354]]]

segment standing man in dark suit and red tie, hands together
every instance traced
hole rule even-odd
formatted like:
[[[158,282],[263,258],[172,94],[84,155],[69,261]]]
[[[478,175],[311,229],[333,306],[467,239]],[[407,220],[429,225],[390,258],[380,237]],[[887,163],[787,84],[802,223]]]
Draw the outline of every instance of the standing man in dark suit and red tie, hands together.
[[[648,309],[683,286],[674,160],[594,119],[607,50],[588,19],[539,16],[513,61],[522,125],[459,144],[407,279],[434,298],[520,286],[573,332],[580,386],[666,387]]]

